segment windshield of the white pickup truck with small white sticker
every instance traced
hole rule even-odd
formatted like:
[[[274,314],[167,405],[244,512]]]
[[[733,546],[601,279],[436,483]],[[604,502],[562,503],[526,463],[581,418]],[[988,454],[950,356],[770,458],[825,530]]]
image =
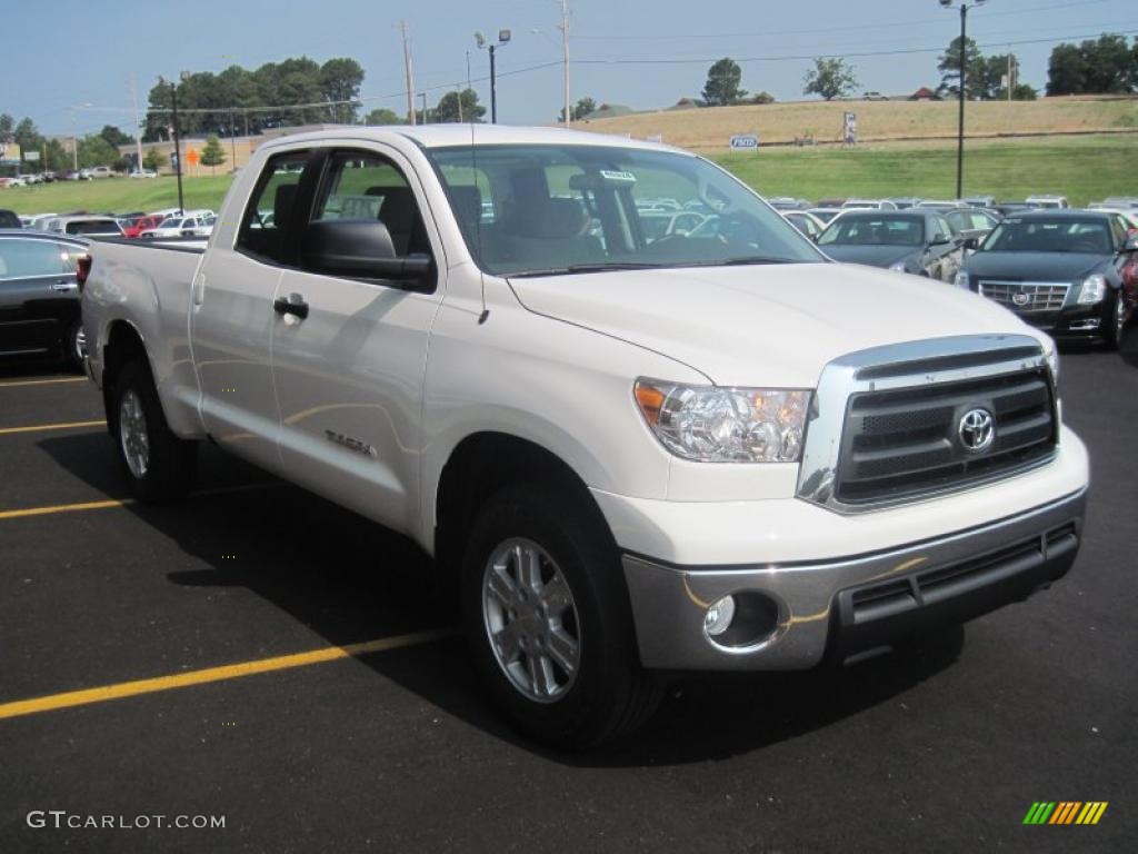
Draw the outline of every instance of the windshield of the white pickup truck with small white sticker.
[[[427,154],[471,254],[498,276],[824,261],[758,196],[698,157],[575,145]]]

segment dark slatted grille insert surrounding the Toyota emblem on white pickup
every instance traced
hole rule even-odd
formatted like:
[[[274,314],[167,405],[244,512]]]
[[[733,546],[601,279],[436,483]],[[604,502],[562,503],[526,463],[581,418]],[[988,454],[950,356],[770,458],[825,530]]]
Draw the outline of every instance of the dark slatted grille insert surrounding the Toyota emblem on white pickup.
[[[960,421],[991,413],[987,450],[965,449]],[[1046,368],[849,397],[835,483],[846,504],[893,501],[958,488],[1045,460],[1056,442]]]

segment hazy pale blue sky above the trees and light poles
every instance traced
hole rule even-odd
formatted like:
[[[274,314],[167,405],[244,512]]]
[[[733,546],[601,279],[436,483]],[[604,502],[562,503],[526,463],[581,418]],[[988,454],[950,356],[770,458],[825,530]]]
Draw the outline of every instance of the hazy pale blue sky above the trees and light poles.
[[[863,91],[935,87],[938,56],[960,23],[959,0],[951,9],[938,0],[569,0],[569,7],[571,100],[589,96],[635,109],[699,97],[708,66],[725,56],[742,66],[744,89],[781,101],[803,98],[814,56],[844,56]],[[1022,82],[1038,89],[1056,42],[1138,34],[1136,0],[970,7],[968,35],[986,54],[1015,52]],[[405,113],[401,19],[415,88],[429,90],[428,104],[465,83],[469,54],[473,88],[488,105],[488,57],[473,32],[509,28],[512,40],[496,55],[498,121],[547,124],[561,109],[560,0],[53,0],[49,17],[57,23],[44,25],[40,3],[0,0],[0,113],[31,116],[47,134],[69,134],[73,116],[80,134],[104,124],[133,132],[132,75],[145,110],[158,75],[220,72],[233,63],[251,69],[298,56],[355,58],[366,73],[364,112]],[[60,30],[60,20],[72,23]]]

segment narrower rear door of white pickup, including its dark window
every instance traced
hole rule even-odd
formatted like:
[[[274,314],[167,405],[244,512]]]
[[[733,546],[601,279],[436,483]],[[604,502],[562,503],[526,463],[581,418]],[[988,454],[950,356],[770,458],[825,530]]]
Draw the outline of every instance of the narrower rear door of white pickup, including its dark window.
[[[295,262],[291,213],[313,174],[312,151],[273,155],[257,179],[232,245],[215,243],[192,284],[193,360],[201,419],[232,453],[279,470],[273,393],[273,298]]]

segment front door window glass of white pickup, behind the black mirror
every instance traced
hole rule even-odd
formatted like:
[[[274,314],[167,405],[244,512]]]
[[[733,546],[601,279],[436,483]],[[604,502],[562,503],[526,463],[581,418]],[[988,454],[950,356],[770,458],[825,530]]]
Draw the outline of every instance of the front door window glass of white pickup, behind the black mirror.
[[[328,161],[312,221],[379,220],[398,257],[429,255],[430,241],[411,184],[391,163],[373,154],[339,151]]]

